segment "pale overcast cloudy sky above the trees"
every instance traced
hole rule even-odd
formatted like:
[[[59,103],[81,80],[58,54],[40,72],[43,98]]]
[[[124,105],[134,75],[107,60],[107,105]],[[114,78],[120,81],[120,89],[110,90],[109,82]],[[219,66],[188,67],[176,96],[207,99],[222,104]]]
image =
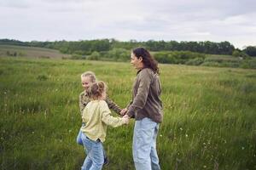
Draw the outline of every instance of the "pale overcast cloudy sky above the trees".
[[[0,39],[256,46],[255,0],[0,0]]]

